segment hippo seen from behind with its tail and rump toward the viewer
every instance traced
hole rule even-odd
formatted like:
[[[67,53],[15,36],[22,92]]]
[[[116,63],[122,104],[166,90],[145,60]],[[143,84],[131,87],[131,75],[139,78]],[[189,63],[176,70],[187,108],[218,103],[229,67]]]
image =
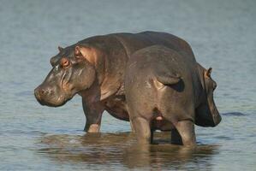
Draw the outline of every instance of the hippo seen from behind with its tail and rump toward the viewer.
[[[221,117],[213,101],[217,84],[210,74],[211,68],[161,45],[136,51],[127,65],[125,94],[138,140],[152,141],[156,129],[172,130],[174,144],[193,145],[196,115],[211,118],[208,124],[216,126]]]

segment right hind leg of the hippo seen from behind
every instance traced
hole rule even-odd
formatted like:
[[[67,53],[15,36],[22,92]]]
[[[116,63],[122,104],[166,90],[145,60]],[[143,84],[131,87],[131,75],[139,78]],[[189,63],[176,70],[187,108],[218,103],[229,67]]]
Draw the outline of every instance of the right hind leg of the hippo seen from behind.
[[[180,134],[180,136],[182,138],[183,145],[195,145],[196,144],[193,121],[188,121],[188,120],[178,121],[178,123],[176,124],[175,127],[178,131],[178,134]],[[174,139],[179,139],[179,138],[174,136]]]

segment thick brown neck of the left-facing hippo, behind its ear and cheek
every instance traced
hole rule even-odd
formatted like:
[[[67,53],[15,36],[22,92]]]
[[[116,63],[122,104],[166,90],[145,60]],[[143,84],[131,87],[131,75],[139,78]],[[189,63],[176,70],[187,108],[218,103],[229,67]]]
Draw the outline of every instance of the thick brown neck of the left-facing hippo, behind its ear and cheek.
[[[104,100],[122,89],[127,53],[122,44],[110,36],[96,37],[90,46],[97,50],[95,69],[100,100]]]

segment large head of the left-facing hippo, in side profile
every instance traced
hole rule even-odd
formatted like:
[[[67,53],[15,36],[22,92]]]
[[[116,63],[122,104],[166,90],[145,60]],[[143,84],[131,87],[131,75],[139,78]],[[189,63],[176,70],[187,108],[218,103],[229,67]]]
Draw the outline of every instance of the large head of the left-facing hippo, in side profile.
[[[92,62],[86,60],[80,46],[59,50],[60,53],[51,58],[51,72],[34,90],[42,105],[61,106],[77,92],[89,88],[96,79],[95,68]]]

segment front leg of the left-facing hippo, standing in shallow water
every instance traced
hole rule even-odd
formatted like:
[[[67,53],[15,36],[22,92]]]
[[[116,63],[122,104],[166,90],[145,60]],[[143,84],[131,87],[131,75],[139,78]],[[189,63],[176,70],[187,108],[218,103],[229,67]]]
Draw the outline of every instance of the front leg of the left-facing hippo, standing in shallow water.
[[[85,103],[83,109],[86,115],[86,126],[84,131],[87,133],[99,133],[104,106],[101,103]]]

